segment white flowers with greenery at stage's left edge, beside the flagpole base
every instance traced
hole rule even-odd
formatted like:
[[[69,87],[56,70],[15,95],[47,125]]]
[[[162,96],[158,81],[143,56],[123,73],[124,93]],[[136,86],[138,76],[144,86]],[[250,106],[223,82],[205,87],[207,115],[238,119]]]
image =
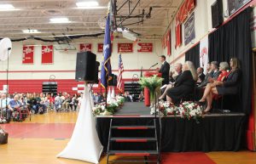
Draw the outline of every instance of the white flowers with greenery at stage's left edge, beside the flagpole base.
[[[125,98],[122,96],[117,96],[113,99],[108,100],[107,108],[106,103],[102,102],[95,107],[92,108],[92,113],[94,116],[102,115],[102,116],[110,116],[113,115],[117,110],[119,110],[125,102]]]

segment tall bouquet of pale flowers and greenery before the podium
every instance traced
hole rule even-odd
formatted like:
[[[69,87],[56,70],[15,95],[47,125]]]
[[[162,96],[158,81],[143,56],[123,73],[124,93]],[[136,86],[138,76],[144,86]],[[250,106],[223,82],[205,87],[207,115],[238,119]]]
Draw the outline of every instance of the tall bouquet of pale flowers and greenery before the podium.
[[[156,75],[150,77],[141,77],[138,83],[142,88],[148,88],[150,92],[150,100],[154,99],[154,92],[157,88],[160,88],[163,82],[163,78]]]

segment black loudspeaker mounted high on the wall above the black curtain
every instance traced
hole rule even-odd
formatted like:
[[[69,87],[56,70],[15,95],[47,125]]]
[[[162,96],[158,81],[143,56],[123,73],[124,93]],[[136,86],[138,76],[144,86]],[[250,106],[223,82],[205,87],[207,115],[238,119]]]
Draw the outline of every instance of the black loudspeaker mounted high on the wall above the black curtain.
[[[217,0],[212,4],[212,28],[218,27],[223,23],[222,0]]]

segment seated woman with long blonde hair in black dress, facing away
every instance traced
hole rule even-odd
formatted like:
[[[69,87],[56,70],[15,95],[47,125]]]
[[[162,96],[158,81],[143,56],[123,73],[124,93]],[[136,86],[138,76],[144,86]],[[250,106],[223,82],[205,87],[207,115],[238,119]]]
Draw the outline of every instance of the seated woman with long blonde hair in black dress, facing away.
[[[191,61],[186,61],[183,65],[183,73],[178,77],[173,88],[166,91],[166,100],[177,103],[183,96],[192,93],[197,81],[195,66]]]

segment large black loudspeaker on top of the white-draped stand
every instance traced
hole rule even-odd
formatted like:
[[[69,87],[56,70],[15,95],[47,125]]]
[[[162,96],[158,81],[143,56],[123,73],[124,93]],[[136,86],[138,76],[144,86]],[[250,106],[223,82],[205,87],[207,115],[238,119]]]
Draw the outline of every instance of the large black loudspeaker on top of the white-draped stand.
[[[98,66],[96,64],[96,54],[90,51],[78,53],[75,79],[77,81],[96,82],[98,80],[96,75]]]

